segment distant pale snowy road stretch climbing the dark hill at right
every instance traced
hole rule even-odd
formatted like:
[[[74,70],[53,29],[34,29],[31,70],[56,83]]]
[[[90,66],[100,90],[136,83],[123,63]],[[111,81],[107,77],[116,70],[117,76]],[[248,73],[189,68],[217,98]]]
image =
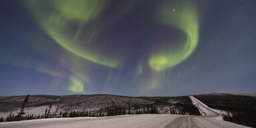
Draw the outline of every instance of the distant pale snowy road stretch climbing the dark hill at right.
[[[212,109],[212,108],[208,107],[207,105],[205,105],[204,103],[202,103],[201,101],[199,101],[199,99],[196,99],[193,96],[189,96],[189,98],[191,99],[193,105],[195,105],[195,107],[197,107],[197,109],[199,109],[199,112],[203,116],[209,116],[209,117],[215,117],[217,119],[222,119],[222,114],[227,115],[226,111]]]

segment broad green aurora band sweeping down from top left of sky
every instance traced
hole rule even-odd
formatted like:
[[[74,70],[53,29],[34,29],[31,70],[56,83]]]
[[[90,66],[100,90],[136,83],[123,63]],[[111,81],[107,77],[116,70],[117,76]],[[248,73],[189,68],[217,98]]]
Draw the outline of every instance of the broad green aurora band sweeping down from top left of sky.
[[[94,63],[118,67],[121,65],[119,60],[106,57],[90,49],[87,44],[91,41],[91,37],[82,35],[79,39],[79,35],[82,34],[81,29],[97,18],[106,5],[107,1],[99,0],[27,0],[27,6],[31,9],[39,25],[61,47]],[[89,40],[83,39],[85,37],[88,37]]]

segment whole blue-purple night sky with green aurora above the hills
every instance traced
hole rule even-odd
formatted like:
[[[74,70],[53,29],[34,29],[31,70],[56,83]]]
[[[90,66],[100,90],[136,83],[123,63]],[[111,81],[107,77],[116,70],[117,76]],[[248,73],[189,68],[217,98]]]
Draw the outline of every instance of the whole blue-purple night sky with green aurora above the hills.
[[[256,92],[255,0],[1,0],[0,96]]]

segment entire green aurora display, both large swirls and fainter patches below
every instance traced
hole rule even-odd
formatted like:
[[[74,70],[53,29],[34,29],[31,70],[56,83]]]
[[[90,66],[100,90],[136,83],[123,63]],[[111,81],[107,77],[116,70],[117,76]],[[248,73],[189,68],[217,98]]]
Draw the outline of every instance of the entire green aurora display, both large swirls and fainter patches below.
[[[90,47],[93,45],[91,40],[97,38],[97,35],[85,34],[85,32],[95,33],[95,30],[87,29],[89,28],[87,25],[90,25],[90,23],[101,17],[102,13],[107,9],[109,1],[27,0],[26,5],[41,28],[54,39],[57,44],[70,53],[86,59],[87,61],[91,61],[92,63],[111,68],[119,69],[124,65],[123,62],[125,61],[123,61],[124,58],[122,57],[119,59],[113,58],[109,57],[109,55],[91,50]],[[174,6],[177,10],[173,10]],[[152,91],[159,87],[161,82],[165,79],[164,70],[170,69],[187,59],[197,47],[199,39],[199,21],[197,10],[193,3],[162,3],[155,12],[157,14],[155,20],[159,24],[164,24],[167,27],[175,27],[183,31],[183,33],[187,35],[187,39],[184,39],[185,42],[181,43],[178,49],[149,54],[148,62],[149,67],[152,69],[152,75],[149,80],[144,82],[143,85],[145,86],[143,86],[141,91]],[[79,63],[79,61],[77,61],[77,63]],[[78,67],[81,69],[83,65],[80,64]],[[138,77],[143,77],[143,67],[145,67],[145,65],[140,64],[137,66],[133,81],[138,80]],[[76,93],[83,92],[83,83],[89,84],[89,75],[87,73],[79,75],[81,73],[77,73],[79,70],[75,70],[74,66],[65,68],[73,73],[73,75],[69,76],[70,85],[68,90]],[[36,70],[60,76],[58,73],[53,73],[53,71],[47,68],[37,68]],[[160,71],[161,73],[155,73],[155,71]]]

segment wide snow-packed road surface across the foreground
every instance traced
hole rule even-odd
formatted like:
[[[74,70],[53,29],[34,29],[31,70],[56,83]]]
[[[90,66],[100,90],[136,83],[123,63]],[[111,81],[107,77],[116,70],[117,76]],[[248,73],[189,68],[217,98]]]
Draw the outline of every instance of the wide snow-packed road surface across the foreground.
[[[243,128],[243,125],[217,120],[213,117],[195,115],[122,115],[114,117],[76,117],[76,118],[53,118],[35,119],[31,121],[17,121],[0,123],[5,128],[217,128],[232,127]]]

